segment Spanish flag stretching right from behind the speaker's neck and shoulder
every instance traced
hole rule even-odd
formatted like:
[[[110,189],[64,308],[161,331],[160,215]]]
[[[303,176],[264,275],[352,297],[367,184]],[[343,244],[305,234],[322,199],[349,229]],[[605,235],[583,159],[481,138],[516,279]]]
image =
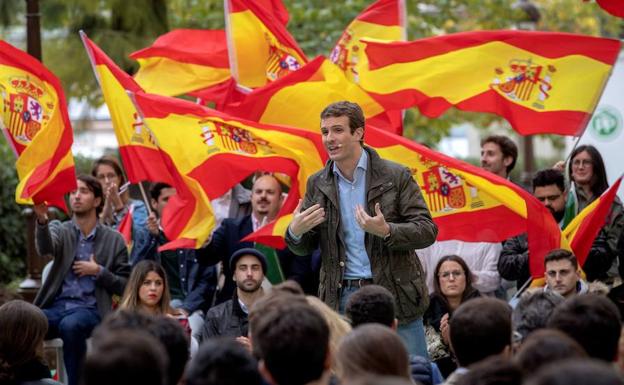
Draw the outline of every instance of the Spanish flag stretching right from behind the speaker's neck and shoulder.
[[[502,242],[527,232],[536,258],[561,246],[549,211],[510,181],[373,127],[366,127],[364,139],[382,158],[410,169],[438,225],[438,240]]]

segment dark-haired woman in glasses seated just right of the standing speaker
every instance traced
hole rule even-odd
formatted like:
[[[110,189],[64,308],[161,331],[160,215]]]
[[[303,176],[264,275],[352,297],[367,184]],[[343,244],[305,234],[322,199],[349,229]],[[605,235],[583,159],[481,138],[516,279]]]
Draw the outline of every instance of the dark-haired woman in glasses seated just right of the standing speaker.
[[[457,255],[442,257],[434,270],[434,290],[425,312],[427,350],[444,377],[457,368],[449,348],[449,320],[462,303],[480,297],[472,286],[472,273],[466,262]]]

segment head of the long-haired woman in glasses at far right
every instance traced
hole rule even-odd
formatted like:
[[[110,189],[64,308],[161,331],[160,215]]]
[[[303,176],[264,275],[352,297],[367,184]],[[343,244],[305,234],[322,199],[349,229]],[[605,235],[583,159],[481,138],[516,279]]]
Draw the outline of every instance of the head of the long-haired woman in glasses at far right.
[[[604,161],[596,147],[590,144],[578,146],[570,154],[568,176],[578,186],[590,186],[594,197],[609,188]]]

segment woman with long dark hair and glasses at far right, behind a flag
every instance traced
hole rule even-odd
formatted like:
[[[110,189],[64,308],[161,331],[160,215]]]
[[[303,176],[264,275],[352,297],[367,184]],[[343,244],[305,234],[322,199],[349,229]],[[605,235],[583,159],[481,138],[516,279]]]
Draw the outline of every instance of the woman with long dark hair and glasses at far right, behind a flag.
[[[564,228],[578,213],[609,188],[604,161],[600,152],[592,145],[581,145],[572,151],[568,163],[568,177],[571,183],[563,218]],[[594,240],[583,266],[588,281],[598,279],[611,283],[613,277],[617,275],[615,268],[612,269],[612,267],[617,256],[617,244],[623,227],[624,211],[622,203],[616,197],[607,215],[606,224]],[[624,267],[622,262],[624,261],[620,261],[620,269]],[[622,275],[621,272],[620,275]]]

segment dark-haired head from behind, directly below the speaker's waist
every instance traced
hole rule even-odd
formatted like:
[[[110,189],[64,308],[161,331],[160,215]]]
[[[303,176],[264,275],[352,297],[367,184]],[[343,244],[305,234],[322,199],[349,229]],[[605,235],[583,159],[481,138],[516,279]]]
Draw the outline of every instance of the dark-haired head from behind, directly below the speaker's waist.
[[[353,293],[345,307],[345,315],[351,320],[351,326],[358,327],[367,323],[380,323],[396,328],[396,307],[394,296],[383,286],[367,285]]]

